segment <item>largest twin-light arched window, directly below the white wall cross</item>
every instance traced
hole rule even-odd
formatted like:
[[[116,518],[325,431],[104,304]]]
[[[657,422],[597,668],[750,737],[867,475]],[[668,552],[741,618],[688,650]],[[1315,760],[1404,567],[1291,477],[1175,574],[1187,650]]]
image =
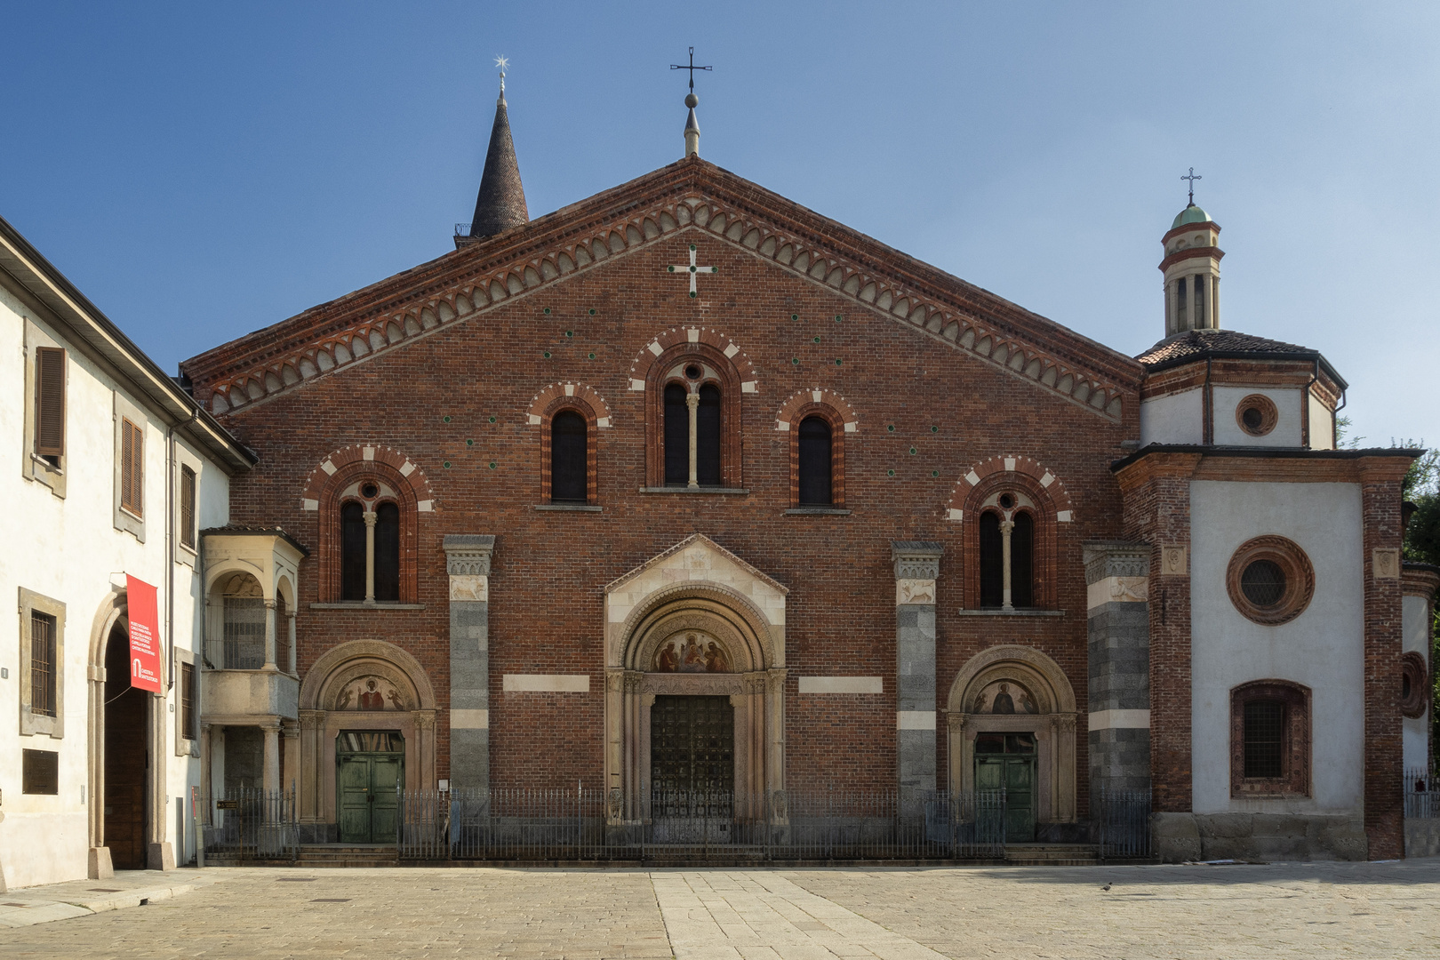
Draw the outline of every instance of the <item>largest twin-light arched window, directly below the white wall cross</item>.
[[[645,485],[740,488],[742,389],[730,358],[711,344],[678,343],[661,350],[644,386]]]

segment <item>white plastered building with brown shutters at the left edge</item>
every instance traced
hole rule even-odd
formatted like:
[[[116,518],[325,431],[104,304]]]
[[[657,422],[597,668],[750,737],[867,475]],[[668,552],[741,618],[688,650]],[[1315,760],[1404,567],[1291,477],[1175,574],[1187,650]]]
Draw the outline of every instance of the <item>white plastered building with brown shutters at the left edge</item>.
[[[253,456],[3,219],[0,463],[0,889],[186,862],[200,531]],[[157,590],[158,694],[130,688],[127,577]]]

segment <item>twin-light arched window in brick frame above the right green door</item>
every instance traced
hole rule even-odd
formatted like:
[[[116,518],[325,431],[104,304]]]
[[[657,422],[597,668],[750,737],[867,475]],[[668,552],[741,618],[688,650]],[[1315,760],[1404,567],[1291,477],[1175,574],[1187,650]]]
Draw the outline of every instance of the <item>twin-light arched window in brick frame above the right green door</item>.
[[[952,520],[965,521],[965,606],[1054,609],[1061,517],[1054,498],[1035,478],[1018,471],[976,479],[963,508],[950,508]]]

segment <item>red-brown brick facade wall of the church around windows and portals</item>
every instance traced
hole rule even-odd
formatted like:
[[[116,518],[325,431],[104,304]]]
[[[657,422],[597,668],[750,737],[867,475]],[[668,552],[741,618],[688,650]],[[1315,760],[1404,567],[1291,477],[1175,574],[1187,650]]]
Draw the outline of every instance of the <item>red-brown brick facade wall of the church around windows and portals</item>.
[[[700,246],[701,263],[720,266],[717,276],[700,278],[696,299],[688,298],[684,276],[664,271],[687,261],[690,242]],[[691,324],[723,331],[755,366],[756,393],[740,403],[742,484],[750,491],[744,497],[638,492],[645,485],[645,393],[629,389],[631,364],[657,334]],[[527,413],[536,394],[557,381],[588,384],[609,404],[612,426],[592,433],[599,445],[600,514],[533,510],[541,502],[541,438]],[[791,435],[775,429],[776,413],[798,390],[816,387],[842,394],[860,422],[857,433],[845,435],[845,507],[854,511],[848,517],[783,515],[791,505]],[[197,394],[204,394],[203,383]],[[311,610],[312,553],[301,573],[302,672],[336,643],[380,638],[423,664],[444,707],[449,620],[441,538],[497,535],[490,581],[494,784],[599,784],[602,587],[700,531],[791,590],[789,784],[888,789],[896,777],[890,541],[946,545],[937,622],[942,704],[956,672],[978,651],[1024,643],[1060,664],[1083,715],[1081,543],[1122,533],[1119,485],[1109,463],[1122,455],[1122,439],[1138,436],[1133,403],[1125,416],[1126,422],[1113,423],[939,337],[857,309],[854,301],[740,248],[683,230],[225,419],[261,455],[259,466],[232,486],[233,522],[282,525],[312,550],[323,543],[318,515],[301,508],[301,494],[331,450],[348,443],[390,446],[419,465],[431,484],[435,510],[419,514],[416,544],[418,600],[425,609]],[[1064,617],[956,615],[963,538],[962,525],[945,518],[946,507],[958,478],[996,455],[1044,463],[1073,501],[1074,522],[1057,524],[1056,596]],[[1169,616],[1188,620],[1178,603],[1185,600],[1172,599]],[[500,681],[507,672],[588,672],[592,692],[504,694]],[[801,675],[880,675],[886,692],[802,697]],[[1171,687],[1188,699],[1188,681]],[[940,783],[943,730],[942,723]],[[445,777],[444,710],[438,738],[438,776]],[[1081,816],[1084,743],[1081,723]]]

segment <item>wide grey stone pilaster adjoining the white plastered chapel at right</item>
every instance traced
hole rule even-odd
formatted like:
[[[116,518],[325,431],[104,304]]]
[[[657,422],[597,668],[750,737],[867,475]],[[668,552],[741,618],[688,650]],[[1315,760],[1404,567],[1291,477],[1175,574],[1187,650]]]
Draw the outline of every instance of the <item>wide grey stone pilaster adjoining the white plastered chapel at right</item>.
[[[1092,792],[1151,784],[1149,573],[1149,544],[1084,544]]]

